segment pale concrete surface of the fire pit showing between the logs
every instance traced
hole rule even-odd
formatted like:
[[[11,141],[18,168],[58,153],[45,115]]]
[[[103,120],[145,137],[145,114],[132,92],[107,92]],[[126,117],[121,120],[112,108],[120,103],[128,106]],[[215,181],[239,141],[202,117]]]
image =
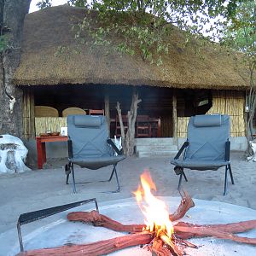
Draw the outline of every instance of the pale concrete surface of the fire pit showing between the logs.
[[[163,197],[170,212],[174,212],[180,202],[178,197]],[[239,222],[241,220],[250,220],[255,218],[256,211],[235,205],[230,205],[215,201],[194,200],[195,207],[191,208],[188,214],[183,217],[183,221],[194,224],[227,224]],[[94,207],[83,206],[76,210],[90,212]],[[123,224],[142,224],[143,213],[137,207],[134,198],[118,201],[108,201],[100,205],[102,214],[107,215]],[[72,212],[72,211],[68,211]],[[72,223],[67,220],[67,212],[61,212],[52,217],[51,223],[34,230],[24,236],[24,246],[26,250],[60,247],[64,244],[75,243],[83,244],[94,241],[105,240],[117,236],[124,236],[124,233],[115,232],[102,227],[94,227],[90,224]],[[256,237],[256,230],[242,233],[241,236]],[[207,237],[189,240],[199,246],[198,249],[189,248],[186,252],[190,255],[254,255],[256,247],[237,243],[235,241],[220,240]],[[6,248],[7,249],[7,248]],[[14,255],[20,252],[18,242],[15,246],[9,247],[6,252]],[[147,249],[141,247],[130,247],[111,255],[151,255]]]

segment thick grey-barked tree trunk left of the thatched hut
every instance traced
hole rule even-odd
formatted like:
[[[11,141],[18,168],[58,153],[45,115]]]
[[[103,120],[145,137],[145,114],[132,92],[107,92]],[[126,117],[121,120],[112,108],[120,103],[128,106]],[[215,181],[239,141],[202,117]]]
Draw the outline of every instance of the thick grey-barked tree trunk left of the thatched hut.
[[[0,133],[22,137],[22,90],[12,84],[20,64],[20,44],[25,15],[31,0],[0,0],[1,35],[9,37],[0,54]]]

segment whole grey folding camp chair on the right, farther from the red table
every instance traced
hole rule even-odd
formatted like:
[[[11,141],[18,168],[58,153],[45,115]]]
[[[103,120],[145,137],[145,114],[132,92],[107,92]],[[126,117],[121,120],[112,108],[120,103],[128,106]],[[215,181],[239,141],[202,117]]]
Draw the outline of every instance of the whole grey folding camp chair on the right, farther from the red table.
[[[177,189],[180,189],[182,178],[188,181],[183,169],[218,170],[225,166],[224,195],[226,195],[230,172],[232,184],[234,179],[230,166],[230,117],[226,114],[195,115],[189,119],[188,139],[171,160],[174,172],[179,175]],[[183,152],[184,151],[184,152]],[[179,160],[183,153],[183,160]]]

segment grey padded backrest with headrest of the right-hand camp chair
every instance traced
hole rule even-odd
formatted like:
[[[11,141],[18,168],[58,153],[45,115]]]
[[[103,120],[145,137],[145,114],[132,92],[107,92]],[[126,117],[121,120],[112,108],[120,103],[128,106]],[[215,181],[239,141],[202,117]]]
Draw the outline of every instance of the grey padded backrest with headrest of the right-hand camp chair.
[[[195,115],[189,119],[186,159],[224,160],[225,143],[230,138],[227,114]]]

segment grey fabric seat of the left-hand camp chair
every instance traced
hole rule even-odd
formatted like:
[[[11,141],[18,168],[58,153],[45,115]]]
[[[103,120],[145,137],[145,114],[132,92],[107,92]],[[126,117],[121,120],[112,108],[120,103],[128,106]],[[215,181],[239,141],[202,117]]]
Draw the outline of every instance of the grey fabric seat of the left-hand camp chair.
[[[79,165],[82,168],[97,170],[104,166],[111,166],[113,164],[117,164],[119,161],[124,159],[125,159],[125,155],[120,155],[120,156],[72,158],[72,159],[69,159],[69,161],[73,162],[73,164]]]

